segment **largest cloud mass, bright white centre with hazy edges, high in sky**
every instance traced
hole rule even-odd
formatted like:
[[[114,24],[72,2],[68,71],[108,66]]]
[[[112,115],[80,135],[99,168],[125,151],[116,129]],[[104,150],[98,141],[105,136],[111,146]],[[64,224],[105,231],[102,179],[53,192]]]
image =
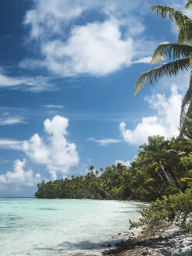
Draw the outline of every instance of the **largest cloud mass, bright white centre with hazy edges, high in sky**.
[[[142,19],[149,6],[147,0],[131,5],[123,0],[34,1],[23,23],[30,26],[30,39],[38,41],[42,58],[23,59],[19,66],[46,68],[59,76],[105,76],[132,63],[148,63],[155,42],[144,37]],[[93,10],[105,20],[74,26]]]

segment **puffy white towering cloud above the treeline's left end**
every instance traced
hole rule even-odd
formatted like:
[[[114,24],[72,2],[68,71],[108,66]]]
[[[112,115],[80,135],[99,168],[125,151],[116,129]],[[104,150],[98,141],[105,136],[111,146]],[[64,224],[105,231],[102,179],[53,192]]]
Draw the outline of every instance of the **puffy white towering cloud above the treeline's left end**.
[[[37,164],[47,165],[52,177],[56,172],[68,172],[69,168],[79,162],[76,145],[66,140],[69,120],[62,116],[55,116],[52,120],[44,121],[44,131],[49,134],[45,143],[36,133],[30,140],[23,142],[23,151]]]

